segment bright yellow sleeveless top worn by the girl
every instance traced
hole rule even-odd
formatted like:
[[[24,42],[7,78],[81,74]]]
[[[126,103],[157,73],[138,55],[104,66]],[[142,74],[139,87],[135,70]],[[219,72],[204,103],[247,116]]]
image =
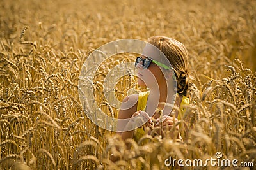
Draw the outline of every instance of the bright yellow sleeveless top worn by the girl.
[[[141,92],[139,94],[139,97],[138,97],[138,105],[137,105],[137,111],[141,110],[141,111],[145,111],[146,110],[146,106],[147,106],[147,100],[148,100],[148,94],[149,94],[149,91],[147,92]],[[177,94],[179,95],[179,94]],[[182,108],[181,106],[182,105],[186,105],[186,104],[189,104],[189,98],[186,97],[186,96],[182,96],[182,101],[180,103],[180,108],[181,108],[181,114],[178,115],[178,120],[180,120],[185,112],[185,108]],[[134,140],[135,141],[139,141],[139,139],[145,135],[145,131],[143,129],[143,127],[139,127],[138,129],[136,129],[135,133],[134,133]]]

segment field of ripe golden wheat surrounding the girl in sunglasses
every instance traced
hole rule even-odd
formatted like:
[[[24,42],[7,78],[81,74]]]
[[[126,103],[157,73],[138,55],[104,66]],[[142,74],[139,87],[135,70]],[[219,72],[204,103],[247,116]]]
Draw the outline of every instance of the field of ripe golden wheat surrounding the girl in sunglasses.
[[[255,169],[256,1],[3,0],[0,9],[0,169],[170,169],[169,156],[205,161],[216,152],[254,165],[237,169]],[[194,79],[180,124],[190,128],[182,141],[122,141],[87,117],[79,74],[99,46],[153,35],[188,48]],[[117,54],[97,68],[92,95],[111,117],[118,109],[104,97],[104,78],[134,57]],[[115,83],[116,97],[131,88],[143,91],[128,74]],[[120,160],[111,162],[112,153]]]

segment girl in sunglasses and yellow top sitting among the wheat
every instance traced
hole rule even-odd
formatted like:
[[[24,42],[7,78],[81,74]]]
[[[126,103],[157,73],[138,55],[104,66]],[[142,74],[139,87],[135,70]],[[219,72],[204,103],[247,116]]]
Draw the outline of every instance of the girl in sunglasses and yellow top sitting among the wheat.
[[[153,125],[159,127],[161,124],[163,129],[170,129],[182,117],[184,110],[178,113],[173,110],[172,104],[178,107],[189,104],[186,97],[189,82],[188,52],[175,39],[152,36],[148,38],[142,55],[137,57],[135,66],[138,69],[138,85],[146,86],[149,90],[125,97],[118,119],[130,121],[125,125],[117,124],[117,134],[122,139],[134,138],[138,141],[145,134],[145,126],[151,129]],[[161,114],[156,109],[161,110]],[[144,121],[138,123],[134,121],[135,117]],[[179,130],[178,125],[175,128]]]

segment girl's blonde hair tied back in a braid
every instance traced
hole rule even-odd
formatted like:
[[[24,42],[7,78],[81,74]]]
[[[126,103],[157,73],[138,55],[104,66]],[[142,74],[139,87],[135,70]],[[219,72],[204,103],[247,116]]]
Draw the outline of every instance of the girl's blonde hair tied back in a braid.
[[[176,76],[177,93],[187,96],[189,86],[188,51],[179,41],[166,36],[152,36],[148,43],[156,46],[172,64]]]

